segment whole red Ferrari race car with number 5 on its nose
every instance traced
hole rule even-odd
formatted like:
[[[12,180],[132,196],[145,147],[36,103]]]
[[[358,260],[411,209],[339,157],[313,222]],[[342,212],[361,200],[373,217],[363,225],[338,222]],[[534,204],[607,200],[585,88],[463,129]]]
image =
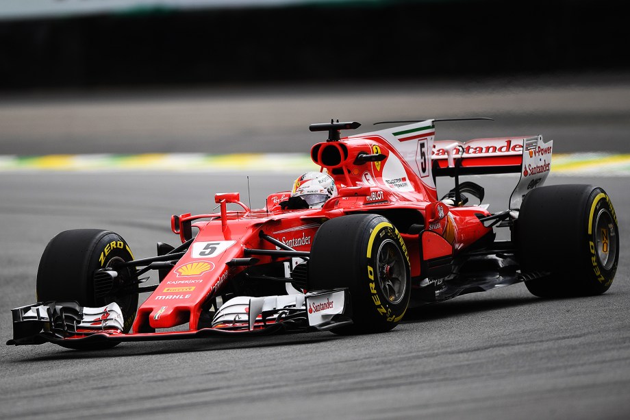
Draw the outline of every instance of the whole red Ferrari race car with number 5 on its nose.
[[[158,243],[157,256],[135,258],[106,230],[58,234],[40,260],[38,302],[12,310],[7,344],[375,333],[409,308],[518,282],[539,297],[604,293],[619,258],[605,191],[543,186],[552,142],[540,135],[435,140],[441,121],[346,137],[360,124],[311,125],[328,134],[310,152],[319,172],[261,209],[218,193],[218,212],[173,215],[179,243]],[[491,213],[484,189],[459,177],[498,173],[520,178]],[[438,195],[436,177],[454,188]],[[510,240],[496,239],[502,227]]]

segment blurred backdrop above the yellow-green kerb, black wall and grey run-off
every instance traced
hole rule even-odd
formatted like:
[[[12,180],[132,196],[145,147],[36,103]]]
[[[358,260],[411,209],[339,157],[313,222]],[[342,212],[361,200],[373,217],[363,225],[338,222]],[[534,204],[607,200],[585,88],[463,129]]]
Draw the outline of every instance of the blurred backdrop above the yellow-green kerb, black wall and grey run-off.
[[[491,116],[438,138],[624,153],[629,41],[614,0],[3,0],[0,166],[307,153],[331,118]]]

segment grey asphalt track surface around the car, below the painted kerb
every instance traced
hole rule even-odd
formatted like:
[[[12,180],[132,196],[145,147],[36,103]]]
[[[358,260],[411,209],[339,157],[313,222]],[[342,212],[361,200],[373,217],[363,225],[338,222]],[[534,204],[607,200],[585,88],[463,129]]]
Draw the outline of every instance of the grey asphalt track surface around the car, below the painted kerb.
[[[608,135],[605,121],[593,123]],[[297,174],[250,175],[251,204],[260,207]],[[476,181],[490,210],[507,206],[512,177]],[[597,184],[612,197],[622,251],[604,295],[539,299],[517,284],[427,306],[370,336],[123,343],[99,352],[0,346],[0,418],[625,419],[629,181],[552,173],[547,184],[559,183]],[[177,243],[171,214],[212,210],[216,192],[248,200],[238,173],[3,173],[0,190],[3,340],[12,335],[10,308],[34,302],[40,255],[58,232],[114,230],[137,257],[152,256],[156,242]]]

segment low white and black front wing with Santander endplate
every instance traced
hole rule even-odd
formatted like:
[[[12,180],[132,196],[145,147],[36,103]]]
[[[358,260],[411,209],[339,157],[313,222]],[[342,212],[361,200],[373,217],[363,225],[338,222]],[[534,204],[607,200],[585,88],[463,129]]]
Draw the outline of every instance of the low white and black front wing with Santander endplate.
[[[55,343],[70,347],[79,343],[97,346],[99,343],[327,331],[352,323],[347,289],[306,295],[236,297],[217,310],[212,325],[188,331],[124,333],[123,314],[116,303],[89,308],[75,301],[52,301],[14,308],[12,316],[13,339],[7,345]]]

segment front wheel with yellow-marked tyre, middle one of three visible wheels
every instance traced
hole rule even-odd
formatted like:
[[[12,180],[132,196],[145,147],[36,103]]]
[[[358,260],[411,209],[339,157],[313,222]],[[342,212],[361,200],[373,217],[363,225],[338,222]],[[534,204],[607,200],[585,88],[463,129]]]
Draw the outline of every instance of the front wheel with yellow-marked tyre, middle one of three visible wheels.
[[[353,214],[326,221],[310,253],[311,288],[349,288],[353,325],[337,334],[392,330],[403,318],[411,295],[407,247],[388,219]]]

